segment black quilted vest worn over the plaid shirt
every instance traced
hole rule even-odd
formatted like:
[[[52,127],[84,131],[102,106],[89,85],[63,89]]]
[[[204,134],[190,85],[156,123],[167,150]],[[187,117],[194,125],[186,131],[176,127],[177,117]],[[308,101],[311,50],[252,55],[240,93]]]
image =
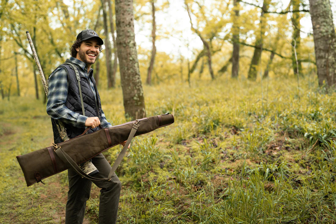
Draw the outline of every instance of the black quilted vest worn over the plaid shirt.
[[[70,60],[66,60],[67,63],[72,63]],[[74,64],[74,63],[72,63]],[[78,71],[80,71],[80,67],[76,64],[74,64]],[[78,81],[76,79],[76,74],[75,71],[69,66],[69,65],[60,65],[58,66],[54,71],[56,71],[59,67],[63,67],[67,70],[68,74],[68,81],[69,81],[69,87],[68,87],[68,97],[66,101],[66,107],[68,107],[70,110],[82,114],[82,105],[81,105],[81,99],[79,95],[79,88],[78,88]],[[53,72],[54,72],[53,71]],[[96,81],[93,78],[93,75],[90,75],[89,78],[91,79],[93,85],[94,85],[94,90],[96,92],[96,95],[93,94],[93,91],[91,89],[91,85],[89,80],[80,75],[80,83],[81,83],[81,89],[82,89],[82,96],[83,96],[83,103],[84,103],[84,109],[85,109],[85,116],[87,117],[99,117],[99,120],[101,119],[101,105],[100,105],[100,97],[98,94],[97,86],[96,86]],[[57,130],[57,126],[55,122],[58,122],[57,120],[51,119],[52,123],[52,131],[54,133],[54,142],[60,143],[62,142],[62,139],[60,138]],[[76,136],[79,136],[82,134],[85,130],[86,127],[74,127],[70,124],[64,123],[67,133],[70,139],[75,138]],[[100,129],[100,127],[96,128],[90,128],[88,130],[88,133],[95,132],[96,130]]]

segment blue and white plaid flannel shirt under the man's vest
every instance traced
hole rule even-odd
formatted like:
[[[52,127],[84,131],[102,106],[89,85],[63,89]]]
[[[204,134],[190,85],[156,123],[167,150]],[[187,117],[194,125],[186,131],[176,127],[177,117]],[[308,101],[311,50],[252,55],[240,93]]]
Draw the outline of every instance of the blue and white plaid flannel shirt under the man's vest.
[[[93,94],[96,95],[93,83],[89,78],[93,73],[93,69],[90,68],[89,73],[87,73],[87,65],[84,62],[73,57],[70,57],[70,61],[80,67],[78,72],[81,76],[87,77],[90,80],[91,89]],[[75,127],[84,127],[88,117],[75,113],[65,106],[68,96],[68,87],[68,75],[65,68],[58,68],[49,76],[47,113],[53,119],[59,119]],[[102,127],[112,127],[111,123],[106,120],[102,110],[100,124]]]

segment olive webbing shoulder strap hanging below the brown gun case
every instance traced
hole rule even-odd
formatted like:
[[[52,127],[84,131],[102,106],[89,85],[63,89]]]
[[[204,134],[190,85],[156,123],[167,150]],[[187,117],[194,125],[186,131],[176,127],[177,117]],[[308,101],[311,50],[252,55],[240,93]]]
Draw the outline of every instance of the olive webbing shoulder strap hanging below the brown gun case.
[[[63,162],[68,163],[72,168],[74,168],[74,170],[76,171],[76,173],[77,173],[79,176],[81,176],[81,177],[85,177],[85,178],[87,178],[87,179],[89,179],[89,180],[104,180],[104,181],[109,181],[109,180],[111,180],[112,175],[114,174],[114,172],[116,171],[118,165],[120,164],[121,160],[123,159],[123,157],[124,157],[124,155],[125,155],[125,153],[126,153],[126,150],[127,150],[127,148],[128,148],[128,145],[131,143],[132,138],[134,137],[134,135],[135,135],[136,130],[138,129],[138,127],[139,127],[139,124],[138,124],[137,122],[135,122],[135,123],[133,124],[133,127],[132,127],[132,129],[131,129],[131,132],[130,132],[130,134],[129,134],[129,136],[128,136],[128,139],[127,139],[127,141],[126,141],[126,144],[124,145],[123,149],[122,149],[121,152],[119,153],[119,155],[118,155],[116,161],[114,162],[114,164],[113,164],[113,166],[112,166],[112,168],[111,168],[110,174],[108,175],[107,178],[96,178],[96,177],[91,177],[91,176],[87,175],[87,174],[84,173],[83,170],[77,165],[77,163],[76,163],[76,162],[75,162],[75,161],[74,161],[74,160],[73,160],[73,159],[72,159],[72,158],[71,158],[65,151],[63,151],[63,149],[62,149],[60,146],[57,146],[56,144],[54,145],[54,147],[55,147],[54,151],[55,151],[55,153],[57,154],[57,156],[58,156],[60,159],[62,159]],[[88,129],[88,128],[87,128],[87,129]],[[87,130],[86,130],[86,131],[87,131]],[[85,132],[86,132],[86,131],[85,131]],[[85,133],[85,132],[84,132],[84,133]],[[83,134],[84,134],[84,133],[83,133]],[[83,134],[82,134],[82,135],[83,135]],[[107,135],[107,136],[108,136],[108,135]],[[110,136],[108,136],[108,137],[110,137]],[[107,137],[107,138],[108,138],[108,137]],[[108,138],[108,140],[109,140],[109,138]],[[109,145],[110,145],[110,141],[111,141],[111,139],[109,140]]]

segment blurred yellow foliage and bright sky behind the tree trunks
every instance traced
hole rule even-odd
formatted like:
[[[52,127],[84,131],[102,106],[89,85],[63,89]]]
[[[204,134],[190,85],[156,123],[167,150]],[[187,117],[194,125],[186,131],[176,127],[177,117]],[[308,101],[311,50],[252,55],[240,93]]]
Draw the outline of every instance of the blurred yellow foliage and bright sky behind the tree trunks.
[[[154,4],[156,20],[153,20],[151,1],[134,1],[134,24],[142,82],[145,83],[147,79],[153,54],[153,21],[157,50],[150,84],[172,81],[183,83],[190,78],[211,78],[204,43],[208,43],[209,46],[213,77],[230,77],[232,45],[237,41],[240,44],[238,78],[244,80],[250,77],[251,57],[257,49],[256,41],[260,38],[264,48],[260,55],[261,61],[252,66],[258,71],[256,79],[260,79],[265,70],[268,71],[269,77],[288,77],[296,74],[293,65],[295,57],[292,55],[293,38],[297,41],[295,47],[298,62],[302,63],[299,73],[315,71],[309,2],[265,2],[268,4],[267,13],[262,13],[263,1],[238,1],[234,4],[234,1],[162,0]],[[0,4],[0,86],[3,99],[21,94],[35,97],[39,95],[39,98],[43,96],[26,31],[32,36],[46,78],[57,65],[70,57],[69,48],[81,30],[95,28],[105,39],[104,29],[107,29],[111,43],[112,35],[116,36],[115,33],[112,34],[110,26],[103,25],[102,5],[107,10],[110,9],[105,1],[2,0]],[[114,5],[112,1],[112,12]],[[187,5],[190,17],[186,10]],[[298,11],[292,12],[295,7],[298,7]],[[238,16],[234,16],[235,11],[239,12]],[[107,19],[115,23],[114,13]],[[297,23],[295,26],[292,22],[294,19]],[[193,28],[190,24],[193,24]],[[263,25],[260,26],[261,24]],[[235,27],[239,27],[238,39],[234,38]],[[297,30],[300,35],[294,37],[293,32]],[[113,44],[111,51],[114,51]],[[270,60],[272,52],[275,55]],[[99,72],[95,74],[98,76],[96,79],[99,79],[99,89],[108,88],[106,55],[103,50],[99,57]],[[110,55],[114,60],[115,55]],[[95,66],[98,65],[94,65],[93,68]],[[260,71],[262,75],[259,75]],[[117,85],[120,85],[118,68],[116,81]]]

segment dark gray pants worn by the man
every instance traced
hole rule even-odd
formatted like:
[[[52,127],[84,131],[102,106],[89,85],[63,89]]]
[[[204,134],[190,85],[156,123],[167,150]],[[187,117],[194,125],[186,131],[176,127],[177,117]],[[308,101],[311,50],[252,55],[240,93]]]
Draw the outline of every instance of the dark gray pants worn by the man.
[[[92,163],[97,167],[99,173],[93,175],[97,178],[106,178],[111,165],[103,154],[92,158]],[[90,197],[92,182],[99,188],[99,223],[110,224],[117,222],[119,197],[121,183],[116,174],[110,181],[91,181],[79,176],[73,168],[68,170],[69,191],[66,207],[65,223],[79,224],[83,223],[86,201]]]

